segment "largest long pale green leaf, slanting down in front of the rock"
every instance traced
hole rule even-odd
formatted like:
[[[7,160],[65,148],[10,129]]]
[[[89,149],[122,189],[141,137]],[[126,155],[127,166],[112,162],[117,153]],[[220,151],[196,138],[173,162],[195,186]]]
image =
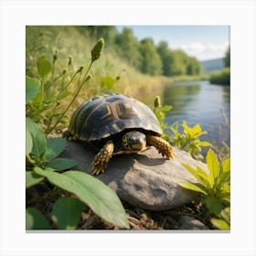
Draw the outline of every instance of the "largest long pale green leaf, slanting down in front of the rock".
[[[38,167],[35,167],[35,171],[38,175],[47,177],[50,183],[74,193],[102,219],[120,228],[130,228],[119,197],[97,178],[79,171],[58,174]]]

